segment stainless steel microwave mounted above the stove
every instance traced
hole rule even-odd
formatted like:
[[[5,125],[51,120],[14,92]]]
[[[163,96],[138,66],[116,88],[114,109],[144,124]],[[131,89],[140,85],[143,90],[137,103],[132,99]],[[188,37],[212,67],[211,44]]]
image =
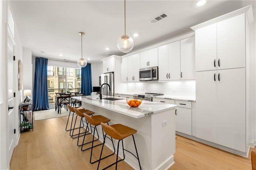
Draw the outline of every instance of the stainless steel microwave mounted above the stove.
[[[140,69],[140,81],[145,80],[158,80],[158,66],[141,68]]]

